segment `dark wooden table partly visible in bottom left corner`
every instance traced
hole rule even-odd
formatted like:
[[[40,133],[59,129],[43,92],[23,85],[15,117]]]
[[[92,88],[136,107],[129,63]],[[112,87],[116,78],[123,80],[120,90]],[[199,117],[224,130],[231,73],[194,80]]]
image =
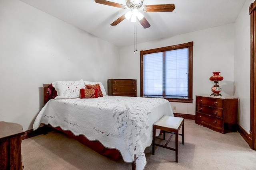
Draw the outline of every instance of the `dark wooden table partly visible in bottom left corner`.
[[[24,133],[21,125],[0,121],[0,169],[22,169],[21,135]]]

